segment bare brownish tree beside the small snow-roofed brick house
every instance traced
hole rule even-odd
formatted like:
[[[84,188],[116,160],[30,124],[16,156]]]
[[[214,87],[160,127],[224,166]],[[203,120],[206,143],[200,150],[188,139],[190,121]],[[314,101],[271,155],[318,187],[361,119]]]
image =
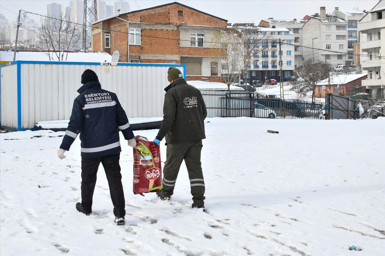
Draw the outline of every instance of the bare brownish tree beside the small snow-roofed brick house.
[[[291,83],[291,90],[297,93],[311,91],[311,103],[314,103],[317,84],[326,78],[330,78],[332,70],[333,68],[327,60],[321,60],[320,58],[309,59],[303,64],[303,68],[298,70],[298,79]]]

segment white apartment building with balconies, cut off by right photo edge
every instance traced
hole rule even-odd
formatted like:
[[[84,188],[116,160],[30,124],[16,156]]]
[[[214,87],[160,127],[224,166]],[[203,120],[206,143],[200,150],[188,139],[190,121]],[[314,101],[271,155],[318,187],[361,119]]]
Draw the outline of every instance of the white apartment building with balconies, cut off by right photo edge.
[[[385,1],[368,11],[358,22],[360,33],[360,64],[362,71],[368,73],[362,86],[372,89],[376,98],[384,98],[385,91]],[[368,55],[368,56],[364,56]]]

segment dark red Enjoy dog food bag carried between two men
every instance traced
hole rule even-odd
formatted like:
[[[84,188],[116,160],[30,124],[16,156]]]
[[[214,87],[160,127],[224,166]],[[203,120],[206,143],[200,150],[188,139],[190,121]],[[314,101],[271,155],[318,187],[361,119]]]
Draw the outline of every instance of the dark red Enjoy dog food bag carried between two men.
[[[161,151],[159,145],[142,136],[135,136],[134,194],[158,192],[162,186]]]

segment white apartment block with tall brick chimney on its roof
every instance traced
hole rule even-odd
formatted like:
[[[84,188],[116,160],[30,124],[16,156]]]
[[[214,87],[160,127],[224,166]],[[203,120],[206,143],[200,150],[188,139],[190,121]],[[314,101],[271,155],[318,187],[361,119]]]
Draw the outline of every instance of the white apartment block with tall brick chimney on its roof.
[[[348,48],[347,26],[346,20],[326,16],[325,7],[321,7],[320,15],[310,17],[302,27],[303,59],[321,58],[333,66],[350,66],[353,48]]]

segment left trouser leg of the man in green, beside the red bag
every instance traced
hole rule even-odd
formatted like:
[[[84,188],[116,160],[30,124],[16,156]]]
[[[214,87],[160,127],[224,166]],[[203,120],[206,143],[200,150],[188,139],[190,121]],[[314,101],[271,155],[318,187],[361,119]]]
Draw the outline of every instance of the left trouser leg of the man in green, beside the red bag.
[[[166,162],[163,167],[162,196],[172,196],[172,194],[174,194],[176,178],[188,146],[186,143],[167,143]]]

